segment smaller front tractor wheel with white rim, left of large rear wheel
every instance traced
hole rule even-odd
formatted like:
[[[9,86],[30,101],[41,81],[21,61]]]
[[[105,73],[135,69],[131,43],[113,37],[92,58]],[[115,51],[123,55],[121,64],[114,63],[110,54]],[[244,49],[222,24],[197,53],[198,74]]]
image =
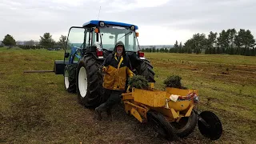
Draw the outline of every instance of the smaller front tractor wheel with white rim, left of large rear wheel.
[[[77,64],[67,65],[64,69],[64,86],[67,92],[76,92],[75,72]]]

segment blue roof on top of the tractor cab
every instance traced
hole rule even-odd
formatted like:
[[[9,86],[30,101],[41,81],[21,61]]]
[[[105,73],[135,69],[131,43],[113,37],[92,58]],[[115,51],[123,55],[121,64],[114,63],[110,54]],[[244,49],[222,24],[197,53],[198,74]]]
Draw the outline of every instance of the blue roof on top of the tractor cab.
[[[115,26],[129,26],[129,27],[135,26],[129,23],[101,21],[101,20],[91,20],[89,22],[84,23],[82,26],[86,26],[86,27],[99,26],[99,22],[104,22],[107,25],[115,25]],[[138,30],[138,26],[135,26],[135,30]]]

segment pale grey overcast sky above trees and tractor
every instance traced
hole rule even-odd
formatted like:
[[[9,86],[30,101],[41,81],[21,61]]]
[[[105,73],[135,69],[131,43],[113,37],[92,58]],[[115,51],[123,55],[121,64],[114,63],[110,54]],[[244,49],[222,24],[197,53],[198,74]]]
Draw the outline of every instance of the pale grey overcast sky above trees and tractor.
[[[70,26],[92,19],[138,26],[140,45],[173,45],[195,33],[229,28],[256,37],[256,0],[0,0],[0,40],[39,40],[46,32],[58,41]]]

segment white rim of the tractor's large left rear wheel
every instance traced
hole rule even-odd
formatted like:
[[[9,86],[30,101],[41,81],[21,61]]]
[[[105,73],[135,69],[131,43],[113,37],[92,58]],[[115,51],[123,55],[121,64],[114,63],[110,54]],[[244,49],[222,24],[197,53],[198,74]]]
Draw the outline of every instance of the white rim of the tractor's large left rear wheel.
[[[87,93],[87,74],[85,67],[81,67],[78,74],[78,88],[82,98],[86,96]]]

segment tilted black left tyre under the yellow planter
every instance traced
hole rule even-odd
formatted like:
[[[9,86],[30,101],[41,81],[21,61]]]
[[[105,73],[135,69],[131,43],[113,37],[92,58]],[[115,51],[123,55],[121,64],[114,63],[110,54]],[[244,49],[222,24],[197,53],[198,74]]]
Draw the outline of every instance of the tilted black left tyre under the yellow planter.
[[[166,118],[154,110],[149,110],[146,113],[148,122],[154,125],[154,130],[158,132],[158,135],[167,140],[174,140],[176,138],[173,126],[166,120]]]

